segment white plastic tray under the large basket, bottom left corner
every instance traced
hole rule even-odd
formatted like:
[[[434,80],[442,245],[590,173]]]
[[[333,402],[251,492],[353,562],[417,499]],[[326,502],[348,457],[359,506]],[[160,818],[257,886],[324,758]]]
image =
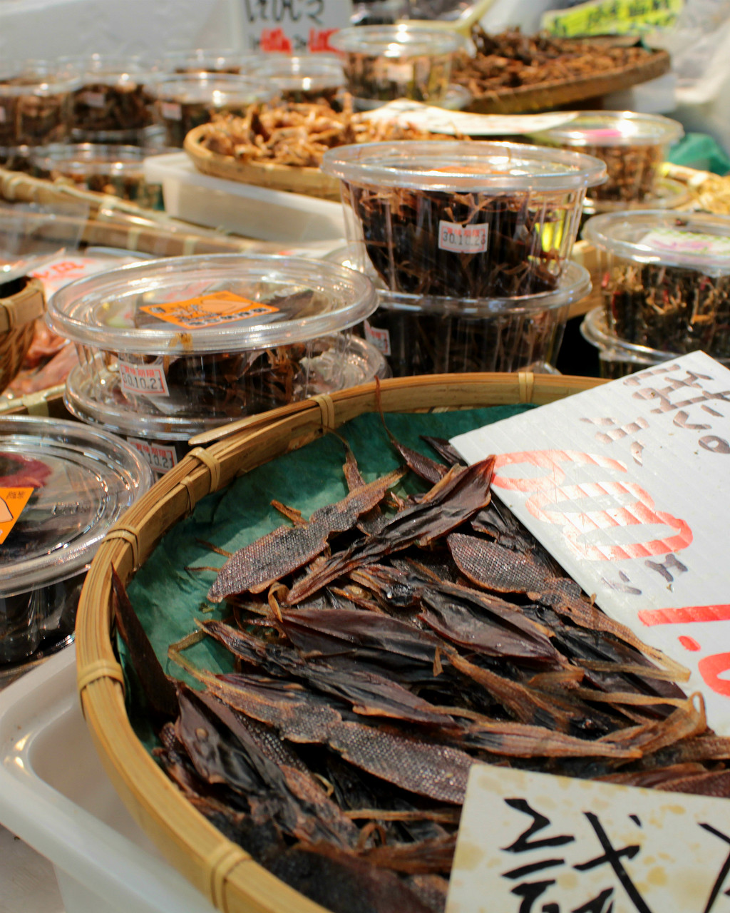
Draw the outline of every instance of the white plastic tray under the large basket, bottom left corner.
[[[0,693],[0,824],[53,863],[67,913],[214,913],[104,771],[81,716],[73,646]]]

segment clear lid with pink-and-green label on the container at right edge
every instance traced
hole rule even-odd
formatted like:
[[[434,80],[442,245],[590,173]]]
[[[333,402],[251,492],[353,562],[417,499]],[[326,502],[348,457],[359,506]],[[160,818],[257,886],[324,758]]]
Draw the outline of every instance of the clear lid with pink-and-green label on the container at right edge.
[[[730,272],[730,216],[662,210],[593,215],[583,237],[615,257],[639,263],[697,269],[706,275]]]

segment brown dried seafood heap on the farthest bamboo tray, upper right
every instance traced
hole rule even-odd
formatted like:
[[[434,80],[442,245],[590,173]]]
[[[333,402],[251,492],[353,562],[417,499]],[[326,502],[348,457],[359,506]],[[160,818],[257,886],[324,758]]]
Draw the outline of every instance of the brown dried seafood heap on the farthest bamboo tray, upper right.
[[[589,38],[523,35],[519,29],[487,35],[477,26],[472,33],[475,57],[462,52],[454,60],[452,81],[478,98],[499,89],[539,86],[582,79],[629,67],[654,53],[640,45],[610,45]]]

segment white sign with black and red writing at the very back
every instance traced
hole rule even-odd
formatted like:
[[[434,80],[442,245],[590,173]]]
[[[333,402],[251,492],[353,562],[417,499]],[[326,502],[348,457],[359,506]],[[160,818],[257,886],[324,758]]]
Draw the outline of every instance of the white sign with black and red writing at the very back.
[[[245,49],[334,53],[328,38],[349,26],[350,0],[234,0]]]

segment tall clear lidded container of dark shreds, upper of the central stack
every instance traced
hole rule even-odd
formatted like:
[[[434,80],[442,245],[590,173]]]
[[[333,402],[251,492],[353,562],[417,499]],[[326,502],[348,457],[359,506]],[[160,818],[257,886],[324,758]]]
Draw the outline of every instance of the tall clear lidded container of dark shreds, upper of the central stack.
[[[558,286],[606,166],[510,142],[372,142],[325,152],[355,265],[386,289],[513,298]]]

